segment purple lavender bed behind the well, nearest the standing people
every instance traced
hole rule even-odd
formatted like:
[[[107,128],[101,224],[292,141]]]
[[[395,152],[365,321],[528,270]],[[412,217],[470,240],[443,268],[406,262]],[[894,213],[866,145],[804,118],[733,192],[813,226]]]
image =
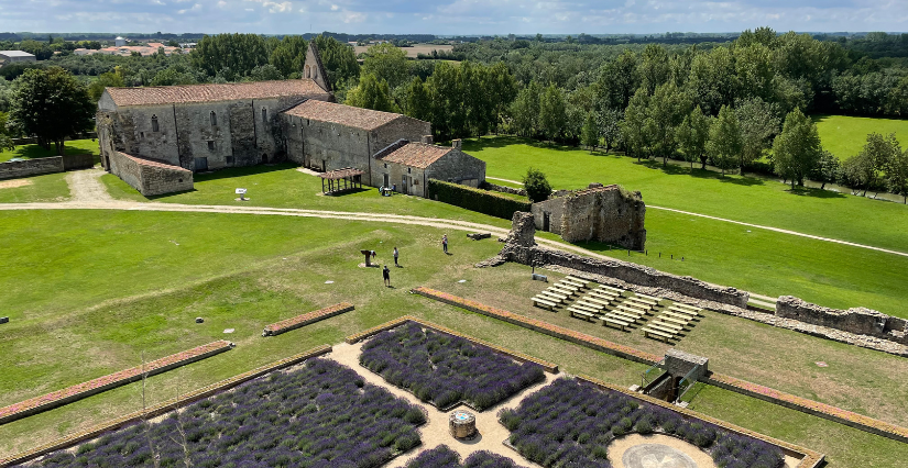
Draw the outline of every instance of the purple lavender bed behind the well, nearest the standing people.
[[[438,408],[467,401],[482,411],[545,380],[539,365],[416,323],[382,332],[362,349],[361,365]]]

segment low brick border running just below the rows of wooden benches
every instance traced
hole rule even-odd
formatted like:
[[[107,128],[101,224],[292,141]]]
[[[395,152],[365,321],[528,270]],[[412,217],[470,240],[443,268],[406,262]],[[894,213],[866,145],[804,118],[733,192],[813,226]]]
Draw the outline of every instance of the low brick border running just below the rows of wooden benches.
[[[595,349],[605,354],[610,354],[636,363],[655,365],[663,360],[661,356],[657,356],[652,353],[634,349],[630,346],[612,343],[608,339],[598,338],[586,333],[580,333],[570,328],[565,328],[564,326],[558,326],[548,322],[543,322],[541,320],[518,315],[502,309],[495,309],[479,303],[477,301],[459,298],[457,296],[437,291],[435,289],[420,287],[414,289],[412,292],[419,296],[424,296],[429,299],[435,299],[436,301],[444,302],[449,305],[467,309],[468,311],[491,316],[493,319],[497,319],[517,326],[522,326],[524,328],[533,330],[534,332],[539,332],[549,336],[554,336],[556,338],[578,344],[583,347]]]

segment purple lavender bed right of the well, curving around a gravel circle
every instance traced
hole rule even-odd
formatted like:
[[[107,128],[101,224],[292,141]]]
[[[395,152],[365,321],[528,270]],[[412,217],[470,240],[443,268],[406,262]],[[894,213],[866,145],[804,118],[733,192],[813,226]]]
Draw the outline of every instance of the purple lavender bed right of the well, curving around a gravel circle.
[[[558,379],[499,416],[521,455],[547,468],[611,468],[612,439],[656,431],[705,449],[720,468],[778,468],[784,461],[781,450],[763,441],[573,379]]]

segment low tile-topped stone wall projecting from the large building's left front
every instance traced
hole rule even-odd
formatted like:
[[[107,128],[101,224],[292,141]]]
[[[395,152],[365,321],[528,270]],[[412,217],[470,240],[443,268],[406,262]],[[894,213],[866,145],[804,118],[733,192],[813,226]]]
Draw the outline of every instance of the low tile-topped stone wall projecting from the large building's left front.
[[[114,152],[110,171],[145,197],[193,189],[193,171],[179,166]]]

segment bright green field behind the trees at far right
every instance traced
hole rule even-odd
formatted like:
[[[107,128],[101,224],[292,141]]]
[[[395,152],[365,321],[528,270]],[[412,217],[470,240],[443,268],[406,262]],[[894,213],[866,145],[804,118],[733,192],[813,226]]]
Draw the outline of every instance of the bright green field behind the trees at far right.
[[[813,115],[823,148],[844,160],[857,155],[867,143],[867,135],[896,134],[901,148],[908,148],[908,120],[858,118],[847,115]]]

